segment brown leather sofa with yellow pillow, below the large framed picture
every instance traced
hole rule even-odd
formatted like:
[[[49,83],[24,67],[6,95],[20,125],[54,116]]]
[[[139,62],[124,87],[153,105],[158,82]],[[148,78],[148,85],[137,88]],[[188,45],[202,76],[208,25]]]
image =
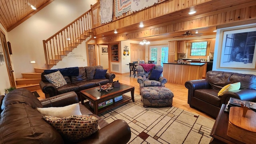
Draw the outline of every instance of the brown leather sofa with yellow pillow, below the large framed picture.
[[[237,91],[227,92],[218,97],[222,87],[240,82]],[[256,75],[232,73],[225,71],[208,71],[206,79],[186,81],[188,104],[216,118],[222,104],[227,104],[230,97],[256,102]]]

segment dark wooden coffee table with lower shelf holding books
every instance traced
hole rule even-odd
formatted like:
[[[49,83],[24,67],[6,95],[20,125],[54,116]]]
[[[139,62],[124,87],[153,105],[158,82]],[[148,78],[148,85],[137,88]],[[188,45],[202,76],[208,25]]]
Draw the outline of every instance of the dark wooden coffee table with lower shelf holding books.
[[[120,83],[120,87],[116,87],[110,91],[105,92],[105,91],[98,91],[99,87],[93,87],[90,89],[82,90],[80,91],[81,93],[81,103],[88,108],[91,112],[94,114],[100,114],[102,112],[105,112],[111,108],[114,108],[118,105],[121,105],[123,103],[126,103],[127,101],[132,100],[134,102],[134,87],[130,85],[125,85]],[[132,97],[128,97],[126,95],[123,95],[124,93],[131,92]],[[120,101],[115,102],[114,97],[122,95],[123,99]],[[84,100],[88,99],[86,103],[84,103]],[[102,103],[104,101],[108,101],[112,99],[113,104],[108,105],[106,107],[98,109],[98,104]],[[90,106],[90,102],[93,104],[93,108]]]

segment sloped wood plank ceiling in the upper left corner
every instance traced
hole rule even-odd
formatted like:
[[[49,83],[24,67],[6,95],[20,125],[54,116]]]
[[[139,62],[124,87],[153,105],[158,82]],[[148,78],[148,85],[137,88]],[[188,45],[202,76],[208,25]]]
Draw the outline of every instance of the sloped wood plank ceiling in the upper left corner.
[[[30,18],[54,0],[1,0],[0,23],[7,32]],[[36,10],[33,10],[32,7]]]

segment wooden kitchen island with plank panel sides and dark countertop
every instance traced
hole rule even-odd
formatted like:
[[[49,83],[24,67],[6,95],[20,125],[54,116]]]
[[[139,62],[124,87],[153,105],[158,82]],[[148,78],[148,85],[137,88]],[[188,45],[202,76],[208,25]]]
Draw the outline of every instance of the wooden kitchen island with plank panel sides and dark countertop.
[[[186,81],[202,79],[203,66],[206,63],[163,63],[163,77],[168,83],[184,85]]]

